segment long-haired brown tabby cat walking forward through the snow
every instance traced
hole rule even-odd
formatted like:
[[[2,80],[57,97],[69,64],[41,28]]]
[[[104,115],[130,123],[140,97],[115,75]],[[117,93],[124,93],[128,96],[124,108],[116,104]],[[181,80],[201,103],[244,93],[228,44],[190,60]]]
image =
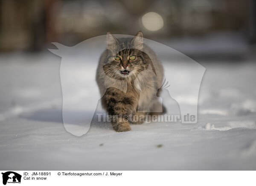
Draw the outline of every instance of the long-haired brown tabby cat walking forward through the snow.
[[[129,117],[162,110],[156,95],[163,81],[163,67],[153,50],[143,44],[142,32],[134,38],[115,38],[108,32],[107,44],[96,74],[102,106],[109,115],[126,116],[112,119],[115,131],[130,131],[130,122],[142,122]]]

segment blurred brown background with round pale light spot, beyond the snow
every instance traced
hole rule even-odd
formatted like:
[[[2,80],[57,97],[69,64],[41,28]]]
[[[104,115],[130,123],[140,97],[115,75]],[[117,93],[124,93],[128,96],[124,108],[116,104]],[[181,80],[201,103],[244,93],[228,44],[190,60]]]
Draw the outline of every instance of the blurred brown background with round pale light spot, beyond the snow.
[[[0,52],[40,52],[51,42],[73,46],[140,30],[195,60],[236,60],[255,52],[256,0],[0,1]]]

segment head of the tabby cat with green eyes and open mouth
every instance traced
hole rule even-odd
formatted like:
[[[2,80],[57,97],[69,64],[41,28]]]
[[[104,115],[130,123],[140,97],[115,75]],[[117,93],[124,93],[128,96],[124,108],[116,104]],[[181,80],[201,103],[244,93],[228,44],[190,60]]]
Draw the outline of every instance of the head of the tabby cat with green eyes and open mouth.
[[[138,32],[134,38],[115,38],[108,32],[107,43],[108,57],[103,69],[111,78],[136,78],[151,63],[151,59],[142,51],[142,32]]]

